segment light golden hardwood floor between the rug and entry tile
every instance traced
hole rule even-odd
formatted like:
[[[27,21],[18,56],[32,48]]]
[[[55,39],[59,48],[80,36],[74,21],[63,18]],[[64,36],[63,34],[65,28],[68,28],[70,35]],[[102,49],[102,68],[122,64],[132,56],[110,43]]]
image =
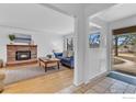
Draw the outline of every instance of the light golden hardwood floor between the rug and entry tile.
[[[3,93],[56,93],[71,86],[73,70],[66,68],[63,71],[5,86]]]

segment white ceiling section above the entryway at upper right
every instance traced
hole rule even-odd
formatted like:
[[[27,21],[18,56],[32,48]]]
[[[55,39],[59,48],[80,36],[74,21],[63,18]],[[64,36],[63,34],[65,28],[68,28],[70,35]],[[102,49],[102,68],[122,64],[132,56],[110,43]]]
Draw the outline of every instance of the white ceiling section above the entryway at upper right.
[[[115,4],[97,16],[106,22],[117,21],[136,14],[136,3],[120,3]]]

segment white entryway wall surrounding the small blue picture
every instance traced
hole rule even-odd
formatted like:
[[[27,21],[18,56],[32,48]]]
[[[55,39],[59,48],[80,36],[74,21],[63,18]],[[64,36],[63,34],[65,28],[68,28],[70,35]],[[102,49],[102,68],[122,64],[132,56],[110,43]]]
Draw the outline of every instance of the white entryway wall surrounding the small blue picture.
[[[91,34],[91,30],[88,30],[86,34],[86,83],[90,81],[90,79],[107,71],[107,58],[106,58],[106,35],[107,35],[107,23],[103,22],[99,19],[90,20],[91,22],[101,26],[100,32],[100,47],[99,48],[90,48],[89,47],[89,34]],[[88,22],[89,23],[89,22]]]

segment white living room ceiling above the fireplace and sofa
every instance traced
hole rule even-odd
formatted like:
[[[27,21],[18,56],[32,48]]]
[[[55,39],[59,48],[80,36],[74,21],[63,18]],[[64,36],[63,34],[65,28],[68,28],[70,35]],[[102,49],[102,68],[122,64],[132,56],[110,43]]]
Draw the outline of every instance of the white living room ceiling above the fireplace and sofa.
[[[73,18],[42,4],[1,3],[0,25],[64,35],[73,32]]]

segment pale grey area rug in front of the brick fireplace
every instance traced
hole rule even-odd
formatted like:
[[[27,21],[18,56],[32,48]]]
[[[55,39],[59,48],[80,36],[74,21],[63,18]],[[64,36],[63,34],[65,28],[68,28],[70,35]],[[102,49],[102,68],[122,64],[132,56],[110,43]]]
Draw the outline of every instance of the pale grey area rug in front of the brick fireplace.
[[[25,67],[25,68],[18,68],[18,69],[5,69],[4,70],[4,72],[5,72],[4,83],[10,84],[10,83],[14,83],[14,82],[22,81],[22,80],[58,72],[58,71],[61,71],[65,69],[66,68],[60,67],[60,69],[58,70],[57,68],[52,67],[52,68],[48,68],[48,70],[46,72],[45,72],[45,69],[42,67],[33,67],[33,68]]]

